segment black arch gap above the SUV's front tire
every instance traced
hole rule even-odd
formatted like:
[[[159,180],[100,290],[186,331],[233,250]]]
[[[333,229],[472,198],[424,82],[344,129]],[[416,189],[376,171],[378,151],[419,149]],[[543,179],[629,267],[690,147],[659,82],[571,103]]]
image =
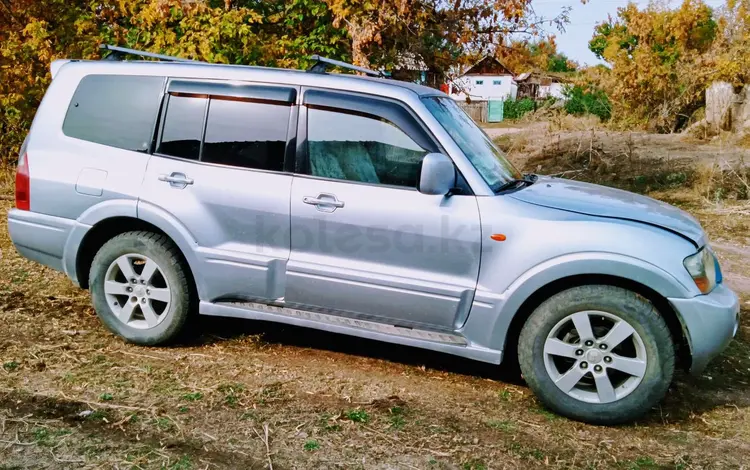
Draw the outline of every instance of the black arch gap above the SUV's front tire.
[[[662,318],[664,318],[664,321],[669,328],[679,364],[686,369],[690,367],[690,347],[688,345],[688,339],[683,330],[682,322],[680,321],[678,313],[672,308],[672,305],[667,298],[651,287],[638,281],[610,274],[578,274],[567,276],[549,282],[535,290],[526,298],[526,300],[524,300],[510,322],[503,348],[504,360],[517,360],[518,339],[521,334],[521,329],[529,316],[542,304],[542,302],[564,290],[585,285],[620,287],[635,292],[648,300],[654,308],[656,308]]]

